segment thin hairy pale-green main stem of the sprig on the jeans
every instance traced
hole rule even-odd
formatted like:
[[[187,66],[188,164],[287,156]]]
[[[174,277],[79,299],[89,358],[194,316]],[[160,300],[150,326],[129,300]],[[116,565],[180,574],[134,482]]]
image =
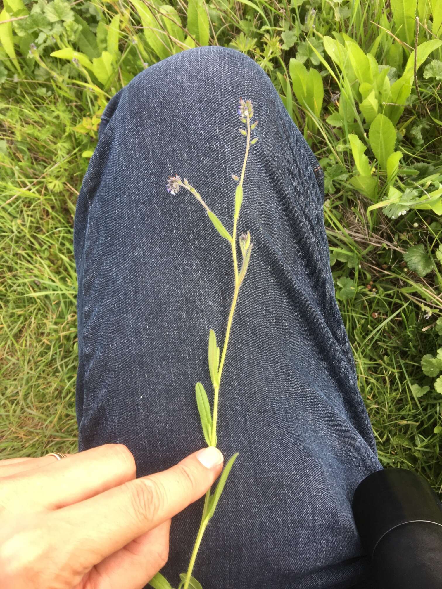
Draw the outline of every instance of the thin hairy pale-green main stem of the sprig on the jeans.
[[[244,173],[246,170],[247,156],[249,154],[249,147],[250,147],[250,118],[249,118],[249,115],[246,115],[246,118],[247,118],[247,146],[246,146],[246,153],[244,155],[244,163],[242,166],[241,178],[239,181],[239,183],[241,185],[244,180]],[[206,203],[204,203],[201,195],[199,193],[197,193],[196,190],[193,191],[193,194],[197,197],[197,199],[204,206],[204,208],[206,210],[208,210],[208,207],[207,207]],[[239,216],[239,211],[238,211],[238,216]],[[238,300],[238,293],[239,293],[239,287],[240,287],[240,283],[238,280],[238,276],[239,276],[238,261],[236,259],[236,224],[238,221],[238,216],[235,215],[233,217],[233,234],[232,234],[232,241],[230,242],[232,244],[233,269],[235,271],[235,292],[233,293],[232,306],[230,307],[229,319],[227,320],[226,337],[224,339],[223,352],[222,352],[221,360],[219,363],[219,369],[218,369],[219,382],[221,381],[221,375],[223,372],[224,360],[226,358],[226,353],[227,353],[227,344],[229,343],[230,329],[232,327],[233,313],[235,312],[235,306],[236,306],[236,301]],[[210,445],[212,445],[212,446],[215,446],[216,420],[217,420],[217,415],[218,415],[218,394],[219,394],[219,385],[215,388],[215,394],[213,397],[212,439],[210,439]],[[189,588],[190,577],[192,575],[193,566],[195,564],[196,554],[199,550],[199,547],[200,547],[200,544],[201,544],[201,541],[203,538],[204,530],[206,530],[207,524],[209,523],[209,521],[206,520],[206,512],[207,512],[207,505],[209,503],[211,490],[212,490],[212,488],[210,488],[206,492],[206,496],[204,497],[203,515],[201,518],[200,528],[198,530],[196,541],[195,541],[195,544],[193,547],[192,556],[190,557],[189,568],[187,568],[186,581],[184,583],[183,589]]]

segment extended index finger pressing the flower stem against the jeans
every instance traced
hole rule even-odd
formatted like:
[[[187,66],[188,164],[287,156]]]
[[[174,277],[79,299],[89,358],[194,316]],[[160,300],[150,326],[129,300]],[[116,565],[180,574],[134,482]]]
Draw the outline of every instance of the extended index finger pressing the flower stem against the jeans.
[[[212,466],[207,460],[204,465],[201,458],[212,458]],[[51,512],[51,530],[66,529],[57,524],[60,520],[69,530],[68,538],[58,539],[57,551],[78,555],[78,562],[85,568],[101,562],[202,497],[219,476],[222,464],[221,452],[209,446],[166,471],[125,482]]]

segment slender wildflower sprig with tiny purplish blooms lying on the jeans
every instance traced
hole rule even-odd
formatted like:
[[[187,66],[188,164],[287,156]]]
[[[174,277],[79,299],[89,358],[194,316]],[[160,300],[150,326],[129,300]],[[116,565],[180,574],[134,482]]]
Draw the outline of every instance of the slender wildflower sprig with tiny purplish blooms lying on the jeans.
[[[167,191],[169,191],[170,194],[177,194],[181,187],[186,188],[186,190],[189,190],[189,192],[193,194],[196,200],[200,204],[202,204],[202,206],[206,210],[207,215],[209,216],[210,221],[212,221],[215,229],[224,239],[229,241],[230,246],[232,248],[233,270],[235,272],[235,292],[233,293],[232,306],[230,307],[229,319],[227,320],[226,336],[224,339],[221,359],[220,349],[216,343],[215,331],[213,329],[210,329],[209,333],[208,356],[210,380],[212,380],[213,385],[213,414],[210,412],[209,399],[207,398],[207,393],[204,390],[202,383],[197,382],[195,385],[196,403],[200,414],[204,439],[206,440],[208,446],[216,446],[217,444],[216,421],[218,415],[218,395],[221,382],[221,375],[223,372],[223,366],[226,359],[227,344],[229,343],[230,329],[232,328],[233,313],[235,312],[235,306],[238,300],[239,288],[243,283],[244,277],[246,275],[250,260],[250,253],[252,252],[253,246],[253,243],[250,243],[249,231],[239,236],[239,247],[242,253],[242,265],[239,269],[238,259],[236,255],[236,226],[238,224],[239,212],[241,209],[243,199],[243,181],[244,174],[246,171],[247,158],[249,155],[249,148],[250,145],[253,145],[254,143],[256,143],[256,141],[258,141],[258,137],[255,137],[254,139],[250,140],[250,133],[256,127],[258,121],[255,121],[255,123],[250,124],[250,120],[253,117],[253,105],[250,100],[244,101],[242,98],[240,98],[238,115],[240,121],[247,127],[247,130],[243,128],[239,129],[239,132],[242,135],[245,135],[246,137],[246,150],[240,177],[236,176],[235,174],[232,174],[233,180],[238,181],[238,186],[236,187],[235,191],[235,213],[233,214],[232,234],[230,234],[229,231],[227,231],[226,227],[221,223],[216,214],[209,209],[206,203],[204,203],[202,196],[196,191],[196,189],[193,186],[191,186],[191,184],[189,184],[187,178],[184,178],[182,181],[181,178],[177,175],[170,176],[166,184]],[[204,530],[206,530],[207,524],[209,523],[210,518],[212,518],[215,512],[216,505],[219,501],[220,495],[222,494],[224,485],[226,484],[230,469],[232,468],[233,462],[235,462],[237,456],[238,452],[236,452],[236,454],[234,454],[232,458],[230,458],[229,462],[227,462],[222,474],[220,475],[219,482],[217,484],[215,492],[212,495],[210,495],[210,491],[212,490],[211,488],[206,492],[206,495],[204,497],[204,507],[200,528],[193,547],[192,556],[190,557],[189,568],[187,569],[187,573],[180,574],[181,583],[179,584],[178,589],[188,589],[189,587],[191,589],[202,589],[201,584],[194,577],[192,577],[193,566],[195,564],[196,555],[201,544]],[[154,587],[154,589],[171,589],[171,585],[169,584],[169,582],[160,573],[157,573],[155,577],[151,579],[150,585]]]

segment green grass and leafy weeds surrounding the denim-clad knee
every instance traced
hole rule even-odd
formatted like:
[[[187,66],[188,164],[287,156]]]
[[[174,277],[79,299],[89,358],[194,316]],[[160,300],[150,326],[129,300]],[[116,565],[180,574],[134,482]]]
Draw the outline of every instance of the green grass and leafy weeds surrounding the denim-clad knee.
[[[2,458],[77,449],[72,226],[105,104],[159,59],[222,45],[267,72],[324,169],[381,462],[441,492],[442,2],[5,0],[0,22]]]

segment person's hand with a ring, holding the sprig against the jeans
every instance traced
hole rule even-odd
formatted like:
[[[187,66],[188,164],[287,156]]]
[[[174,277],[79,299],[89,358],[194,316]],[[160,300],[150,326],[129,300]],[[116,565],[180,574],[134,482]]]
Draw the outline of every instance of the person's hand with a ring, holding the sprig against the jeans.
[[[140,478],[122,444],[0,461],[0,587],[143,588],[167,562],[171,517],[222,470],[219,451],[199,452]]]

